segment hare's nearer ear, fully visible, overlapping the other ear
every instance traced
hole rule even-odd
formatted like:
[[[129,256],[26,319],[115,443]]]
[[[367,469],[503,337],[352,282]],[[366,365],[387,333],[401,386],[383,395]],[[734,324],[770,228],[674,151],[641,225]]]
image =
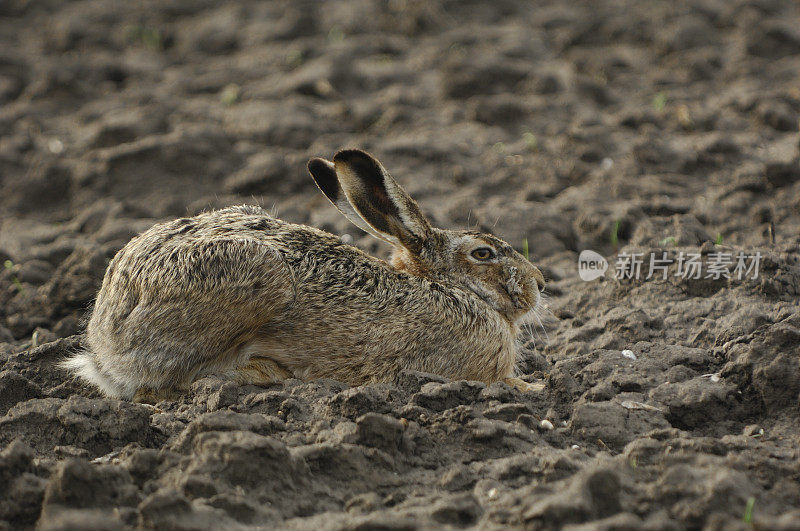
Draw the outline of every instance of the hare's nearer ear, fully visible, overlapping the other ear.
[[[350,209],[370,226],[368,232],[419,252],[431,235],[430,223],[381,163],[363,151],[348,149],[334,155],[333,165]]]

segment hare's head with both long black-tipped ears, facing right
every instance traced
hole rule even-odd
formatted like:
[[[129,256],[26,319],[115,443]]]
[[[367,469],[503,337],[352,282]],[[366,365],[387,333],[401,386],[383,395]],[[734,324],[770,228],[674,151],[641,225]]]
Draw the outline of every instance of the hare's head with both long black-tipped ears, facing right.
[[[394,247],[392,265],[412,275],[459,284],[511,323],[539,304],[542,273],[503,240],[480,232],[431,227],[419,206],[383,166],[359,150],[308,170],[322,193],[351,222]]]

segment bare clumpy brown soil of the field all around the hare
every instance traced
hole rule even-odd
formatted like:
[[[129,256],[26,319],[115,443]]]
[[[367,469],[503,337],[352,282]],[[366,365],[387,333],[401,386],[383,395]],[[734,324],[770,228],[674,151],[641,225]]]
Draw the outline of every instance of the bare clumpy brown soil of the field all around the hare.
[[[0,3],[0,529],[800,528],[798,28],[781,0]],[[257,202],[385,256],[305,173],[347,146],[436,224],[527,240],[542,394],[206,379],[153,409],[54,366],[157,220]],[[584,282],[584,249],[763,260]]]

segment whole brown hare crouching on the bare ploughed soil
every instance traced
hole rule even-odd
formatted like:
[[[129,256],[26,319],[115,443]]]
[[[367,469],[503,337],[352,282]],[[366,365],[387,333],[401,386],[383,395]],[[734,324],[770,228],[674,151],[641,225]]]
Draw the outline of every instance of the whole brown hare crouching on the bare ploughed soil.
[[[208,374],[360,385],[413,369],[532,388],[514,375],[539,269],[494,236],[431,227],[363,151],[308,169],[342,214],[394,247],[390,263],[253,206],[160,223],[111,261],[88,348],[64,366],[140,401]]]

